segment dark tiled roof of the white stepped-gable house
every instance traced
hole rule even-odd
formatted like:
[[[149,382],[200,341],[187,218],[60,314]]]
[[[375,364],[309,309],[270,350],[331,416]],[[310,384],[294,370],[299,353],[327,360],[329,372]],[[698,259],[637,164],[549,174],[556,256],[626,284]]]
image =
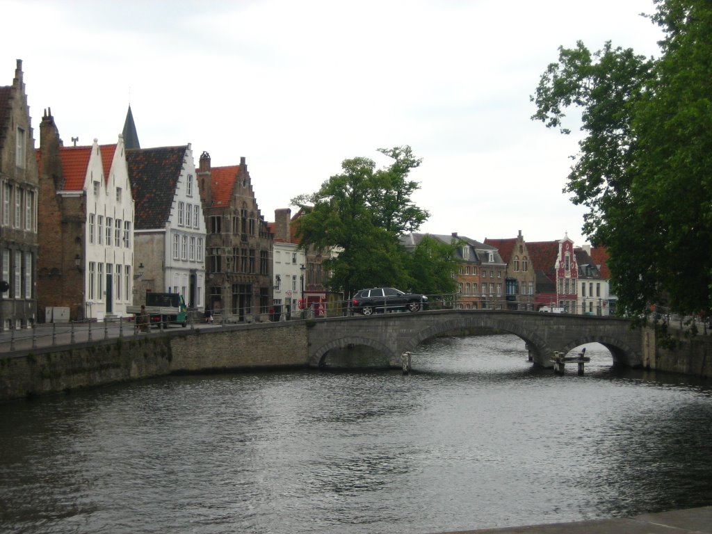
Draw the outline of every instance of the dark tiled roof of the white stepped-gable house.
[[[126,151],[135,202],[135,229],[166,226],[187,149],[183,146]]]

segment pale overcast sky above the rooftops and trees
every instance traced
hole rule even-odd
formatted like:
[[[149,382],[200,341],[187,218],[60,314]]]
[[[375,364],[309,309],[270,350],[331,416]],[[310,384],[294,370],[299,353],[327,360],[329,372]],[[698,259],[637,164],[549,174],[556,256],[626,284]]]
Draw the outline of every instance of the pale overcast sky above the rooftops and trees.
[[[0,85],[23,60],[36,143],[51,108],[66,145],[112,143],[128,105],[142,147],[191,143],[246,161],[263,216],[343,159],[422,166],[422,231],[577,244],[562,193],[577,152],[530,116],[557,47],[610,40],[656,56],[652,0],[0,0]],[[575,112],[571,125],[576,130]]]

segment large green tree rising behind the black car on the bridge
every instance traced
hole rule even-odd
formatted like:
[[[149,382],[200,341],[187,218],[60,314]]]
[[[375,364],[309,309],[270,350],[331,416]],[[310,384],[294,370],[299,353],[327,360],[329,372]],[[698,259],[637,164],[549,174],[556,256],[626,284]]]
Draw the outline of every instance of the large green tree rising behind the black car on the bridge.
[[[371,286],[404,287],[409,283],[402,231],[418,229],[428,212],[411,200],[417,183],[407,179],[421,160],[410,147],[381,149],[394,162],[376,169],[365,157],[345,159],[341,174],[330,177],[318,192],[292,199],[305,214],[299,218],[301,246],[337,247],[325,265],[329,287],[350,295]]]

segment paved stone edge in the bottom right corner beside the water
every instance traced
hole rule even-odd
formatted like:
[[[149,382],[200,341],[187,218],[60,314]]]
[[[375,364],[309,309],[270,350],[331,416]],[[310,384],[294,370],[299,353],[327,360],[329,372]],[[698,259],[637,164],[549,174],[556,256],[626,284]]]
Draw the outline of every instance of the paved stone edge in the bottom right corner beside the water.
[[[458,530],[443,534],[712,534],[712,506],[644,513],[633,518]]]

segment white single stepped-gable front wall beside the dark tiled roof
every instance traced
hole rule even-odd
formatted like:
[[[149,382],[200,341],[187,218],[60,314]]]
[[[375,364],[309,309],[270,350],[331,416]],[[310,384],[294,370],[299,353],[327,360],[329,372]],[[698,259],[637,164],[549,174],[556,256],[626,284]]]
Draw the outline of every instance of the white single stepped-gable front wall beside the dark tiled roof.
[[[166,225],[165,291],[181,293],[188,306],[205,308],[205,217],[195,162],[187,145]]]

